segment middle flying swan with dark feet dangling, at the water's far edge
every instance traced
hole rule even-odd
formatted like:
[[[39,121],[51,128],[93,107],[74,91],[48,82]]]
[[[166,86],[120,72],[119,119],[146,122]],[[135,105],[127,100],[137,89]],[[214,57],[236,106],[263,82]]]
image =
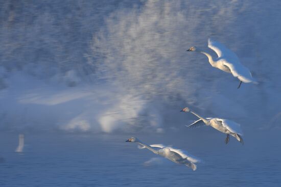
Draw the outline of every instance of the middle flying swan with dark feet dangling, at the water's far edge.
[[[208,125],[212,126],[213,128],[226,133],[226,139],[225,143],[227,144],[229,142],[229,135],[236,138],[239,142],[244,144],[244,141],[242,139],[243,132],[240,128],[240,124],[227,120],[227,119],[220,119],[220,118],[203,118],[196,114],[195,112],[191,111],[189,108],[184,108],[180,112],[190,112],[200,118],[199,120],[195,121],[194,123],[190,125],[186,125],[188,127],[198,127],[202,125]]]

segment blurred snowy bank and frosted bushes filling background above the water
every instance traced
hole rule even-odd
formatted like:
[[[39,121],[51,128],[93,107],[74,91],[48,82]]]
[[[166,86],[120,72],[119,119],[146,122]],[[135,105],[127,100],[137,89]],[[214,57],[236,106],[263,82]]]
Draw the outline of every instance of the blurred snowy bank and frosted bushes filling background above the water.
[[[4,1],[0,129],[162,133],[195,119],[179,113],[185,106],[279,129],[281,2],[270,2]],[[260,84],[238,90],[236,78],[186,52],[212,52],[209,37]]]

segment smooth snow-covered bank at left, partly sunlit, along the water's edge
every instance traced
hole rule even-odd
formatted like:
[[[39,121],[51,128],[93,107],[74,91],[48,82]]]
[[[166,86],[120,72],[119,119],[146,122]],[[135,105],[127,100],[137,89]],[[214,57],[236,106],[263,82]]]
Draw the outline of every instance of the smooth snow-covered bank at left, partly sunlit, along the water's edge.
[[[114,85],[67,87],[18,71],[7,84],[0,96],[2,129],[112,132],[145,127],[142,119],[161,131],[157,110]]]

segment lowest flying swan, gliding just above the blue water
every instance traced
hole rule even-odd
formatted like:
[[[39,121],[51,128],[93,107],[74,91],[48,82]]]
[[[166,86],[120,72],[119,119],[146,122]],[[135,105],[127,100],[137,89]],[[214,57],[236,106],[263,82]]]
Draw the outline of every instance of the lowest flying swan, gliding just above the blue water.
[[[147,148],[150,151],[152,151],[153,153],[161,155],[165,158],[168,158],[170,161],[172,161],[174,163],[183,164],[185,166],[188,166],[191,169],[193,169],[193,171],[195,171],[197,169],[197,166],[194,163],[200,162],[200,159],[196,158],[195,156],[188,154],[180,149],[175,149],[170,146],[168,147],[168,146],[165,146],[162,144],[147,145],[143,142],[140,142],[135,137],[128,139],[126,142],[136,142],[140,145],[140,146],[138,146],[139,149]]]

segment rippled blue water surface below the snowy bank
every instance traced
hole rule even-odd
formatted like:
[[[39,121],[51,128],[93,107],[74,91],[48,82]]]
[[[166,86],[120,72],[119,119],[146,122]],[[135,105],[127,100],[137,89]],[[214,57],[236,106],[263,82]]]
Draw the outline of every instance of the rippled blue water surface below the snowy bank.
[[[215,130],[214,130],[215,132]],[[125,142],[128,135],[26,135],[22,153],[17,135],[0,136],[0,185],[14,186],[279,186],[278,133],[256,133],[242,146],[219,133],[191,138],[189,132],[139,135],[148,143],[177,145],[204,164],[196,171],[155,157]],[[264,139],[264,136],[268,137]]]

